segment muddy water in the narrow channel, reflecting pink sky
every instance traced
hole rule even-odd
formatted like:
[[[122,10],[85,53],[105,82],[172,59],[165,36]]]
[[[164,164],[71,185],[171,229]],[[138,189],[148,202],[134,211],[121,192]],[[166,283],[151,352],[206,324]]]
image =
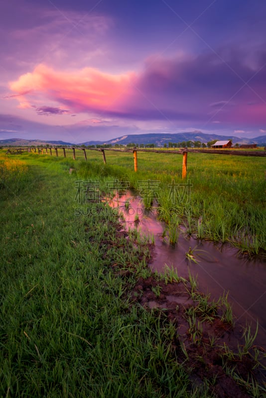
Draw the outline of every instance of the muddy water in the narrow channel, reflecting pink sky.
[[[125,203],[130,200],[126,211]],[[182,231],[178,243],[172,246],[167,237],[162,238],[164,223],[156,219],[156,209],[149,213],[139,198],[131,192],[113,199],[110,203],[119,207],[125,218],[126,229],[137,228],[145,236],[153,237],[154,258],[150,264],[153,270],[163,272],[165,264],[177,270],[178,275],[188,279],[189,272],[197,276],[199,291],[218,299],[227,292],[236,317],[236,327],[252,323],[255,332],[257,320],[259,331],[256,344],[266,350],[266,262],[260,259],[248,260],[238,256],[238,250],[229,245],[214,244],[187,237]],[[135,216],[139,222],[136,223]],[[186,252],[191,247],[194,260],[188,261]]]

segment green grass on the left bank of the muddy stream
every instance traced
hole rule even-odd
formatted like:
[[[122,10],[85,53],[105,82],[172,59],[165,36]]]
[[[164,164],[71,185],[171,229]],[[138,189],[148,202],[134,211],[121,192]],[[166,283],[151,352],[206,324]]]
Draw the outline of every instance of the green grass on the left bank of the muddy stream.
[[[74,216],[69,160],[25,158],[27,184],[0,190],[0,396],[207,397],[111,267],[146,269],[141,246],[118,242],[112,213]]]

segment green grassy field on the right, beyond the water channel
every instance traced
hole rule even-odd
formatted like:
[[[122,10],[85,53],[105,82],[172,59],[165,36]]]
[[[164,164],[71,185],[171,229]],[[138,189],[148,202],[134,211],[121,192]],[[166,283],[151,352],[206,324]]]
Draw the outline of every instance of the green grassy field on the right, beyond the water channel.
[[[136,190],[144,181],[157,182],[159,190],[152,192],[151,187],[144,199],[145,195],[157,199],[169,229],[183,224],[187,233],[199,238],[230,242],[248,255],[265,256],[265,158],[188,154],[187,180],[182,181],[181,155],[138,152],[134,173],[132,153],[106,151],[104,166],[101,153],[87,152],[88,162],[78,166],[85,179],[115,176]],[[189,192],[178,187],[186,182],[191,185]]]

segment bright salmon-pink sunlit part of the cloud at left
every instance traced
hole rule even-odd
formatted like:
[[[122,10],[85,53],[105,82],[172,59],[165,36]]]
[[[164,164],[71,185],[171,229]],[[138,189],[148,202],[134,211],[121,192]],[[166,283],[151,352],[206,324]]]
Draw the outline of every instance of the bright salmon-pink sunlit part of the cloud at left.
[[[20,107],[46,98],[76,111],[101,110],[114,106],[130,90],[133,73],[111,75],[94,68],[61,72],[40,64],[32,73],[21,75],[9,87]],[[26,93],[26,96],[25,96]],[[30,97],[28,100],[26,97]],[[32,105],[31,105],[32,106]]]

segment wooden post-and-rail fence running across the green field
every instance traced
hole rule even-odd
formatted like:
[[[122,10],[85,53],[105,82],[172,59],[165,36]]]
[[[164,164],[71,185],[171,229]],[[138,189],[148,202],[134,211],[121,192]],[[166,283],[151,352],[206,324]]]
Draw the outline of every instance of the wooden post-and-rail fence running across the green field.
[[[52,149],[55,151],[55,155],[58,157],[58,149],[63,149],[64,157],[66,157],[66,148],[8,148],[7,154],[14,154],[14,153],[22,153],[24,151],[34,153],[38,151],[38,154],[43,154],[45,150],[46,155],[48,155],[48,149],[50,155],[52,156]],[[227,149],[187,149],[187,148],[178,148],[178,150],[161,150],[161,149],[142,149],[142,148],[125,148],[125,149],[117,149],[117,148],[77,148],[77,147],[67,147],[67,149],[72,150],[73,152],[73,160],[76,160],[76,150],[83,151],[84,159],[87,161],[87,151],[98,151],[102,152],[104,164],[106,164],[106,156],[105,151],[114,151],[114,152],[123,152],[123,153],[133,153],[133,160],[134,160],[134,171],[137,172],[137,152],[146,152],[146,153],[163,153],[164,155],[167,154],[175,154],[175,155],[183,155],[183,162],[182,162],[182,179],[186,178],[187,175],[187,154],[188,153],[211,153],[216,155],[234,155],[234,156],[266,156],[266,150],[264,151],[244,151],[244,150],[227,150]]]

